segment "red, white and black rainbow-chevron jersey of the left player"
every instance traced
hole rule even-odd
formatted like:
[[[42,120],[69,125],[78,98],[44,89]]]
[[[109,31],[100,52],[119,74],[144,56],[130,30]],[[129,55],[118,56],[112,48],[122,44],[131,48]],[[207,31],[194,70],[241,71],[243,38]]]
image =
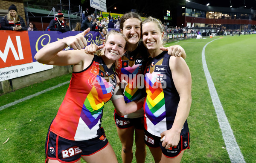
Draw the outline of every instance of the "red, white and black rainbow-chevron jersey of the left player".
[[[70,86],[50,130],[68,140],[88,140],[101,127],[103,106],[116,86],[113,69],[95,55],[90,67],[73,72]]]

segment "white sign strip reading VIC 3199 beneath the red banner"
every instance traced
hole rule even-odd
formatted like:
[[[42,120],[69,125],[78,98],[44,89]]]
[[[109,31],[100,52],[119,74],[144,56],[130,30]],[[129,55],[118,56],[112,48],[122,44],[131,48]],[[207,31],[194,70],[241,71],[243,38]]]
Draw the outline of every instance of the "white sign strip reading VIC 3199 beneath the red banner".
[[[52,65],[44,65],[38,62],[26,63],[23,65],[4,67],[0,69],[0,82],[4,80],[22,77],[28,74],[52,69]]]

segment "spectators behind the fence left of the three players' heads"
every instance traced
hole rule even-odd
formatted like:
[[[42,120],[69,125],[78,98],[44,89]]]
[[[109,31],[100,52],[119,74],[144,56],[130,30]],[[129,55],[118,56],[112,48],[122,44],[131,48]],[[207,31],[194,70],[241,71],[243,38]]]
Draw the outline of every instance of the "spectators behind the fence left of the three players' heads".
[[[60,31],[67,32],[70,31],[70,22],[64,18],[64,14],[61,11],[55,15],[56,17],[52,19],[47,26],[46,31]],[[82,23],[77,22],[76,27],[72,31],[84,31],[90,28],[90,31],[99,31],[102,36],[102,41],[108,34],[108,29],[119,29],[120,28],[120,17],[111,17],[111,14],[107,18],[104,18],[102,14],[95,13],[88,14],[88,10],[83,11],[81,15]],[[26,26],[23,18],[18,15],[17,7],[11,5],[9,7],[9,13],[6,14],[0,23],[1,30],[12,30],[12,31],[38,31],[35,27],[35,23],[29,22],[28,27]]]

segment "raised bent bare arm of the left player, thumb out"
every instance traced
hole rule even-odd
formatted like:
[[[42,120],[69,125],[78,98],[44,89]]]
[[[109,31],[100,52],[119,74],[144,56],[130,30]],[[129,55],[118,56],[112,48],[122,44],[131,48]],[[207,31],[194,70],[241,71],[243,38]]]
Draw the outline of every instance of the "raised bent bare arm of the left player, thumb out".
[[[84,50],[81,49],[87,45],[84,35],[89,31],[90,29],[87,29],[76,36],[66,37],[62,40],[49,43],[47,46],[40,49],[37,54],[35,54],[35,59],[39,63],[58,66],[81,64],[84,57],[88,56]],[[63,51],[63,49],[67,46],[70,46],[75,50]]]

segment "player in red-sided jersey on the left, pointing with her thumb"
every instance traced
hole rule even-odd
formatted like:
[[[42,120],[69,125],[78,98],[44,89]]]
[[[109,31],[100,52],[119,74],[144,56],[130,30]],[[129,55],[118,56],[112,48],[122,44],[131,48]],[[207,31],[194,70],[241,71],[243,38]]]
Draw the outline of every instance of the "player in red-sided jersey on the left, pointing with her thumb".
[[[104,104],[111,99],[117,84],[112,64],[126,51],[126,38],[112,31],[100,55],[87,54],[84,36],[76,36],[44,46],[35,59],[44,64],[74,65],[70,86],[58,113],[49,126],[45,152],[46,163],[117,163],[101,126]],[[74,50],[63,51],[70,46]]]

